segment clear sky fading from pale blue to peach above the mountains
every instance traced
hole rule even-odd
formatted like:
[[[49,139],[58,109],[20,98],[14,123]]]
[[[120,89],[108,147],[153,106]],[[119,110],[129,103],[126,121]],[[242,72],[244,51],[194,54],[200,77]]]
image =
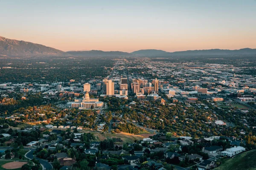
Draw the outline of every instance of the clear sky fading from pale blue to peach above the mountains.
[[[62,51],[256,48],[256,0],[0,0],[0,23]]]

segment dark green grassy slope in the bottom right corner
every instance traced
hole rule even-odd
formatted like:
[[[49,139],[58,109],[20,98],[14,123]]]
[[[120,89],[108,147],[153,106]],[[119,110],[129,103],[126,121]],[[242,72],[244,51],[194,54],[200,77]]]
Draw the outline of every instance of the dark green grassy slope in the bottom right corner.
[[[222,164],[214,170],[256,170],[256,150],[250,150],[229,159],[220,159]]]

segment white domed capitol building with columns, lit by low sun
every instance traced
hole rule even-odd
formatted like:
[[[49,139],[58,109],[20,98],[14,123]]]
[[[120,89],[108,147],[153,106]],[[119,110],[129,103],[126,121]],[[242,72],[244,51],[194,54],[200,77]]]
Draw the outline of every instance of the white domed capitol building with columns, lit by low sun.
[[[92,108],[101,108],[103,106],[103,102],[99,102],[97,98],[90,98],[89,92],[85,91],[84,97],[80,99],[75,99],[74,102],[68,102],[67,105],[70,108],[78,108],[78,109],[90,109]]]

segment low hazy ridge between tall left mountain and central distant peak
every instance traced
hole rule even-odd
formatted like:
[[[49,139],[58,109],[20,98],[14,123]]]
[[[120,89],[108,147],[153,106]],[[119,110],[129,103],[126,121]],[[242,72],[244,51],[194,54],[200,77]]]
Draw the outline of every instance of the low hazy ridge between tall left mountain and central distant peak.
[[[67,51],[68,54],[74,56],[83,56],[83,57],[95,57],[95,56],[127,56],[131,55],[127,52],[122,51],[101,51],[101,50],[91,50],[91,51]]]

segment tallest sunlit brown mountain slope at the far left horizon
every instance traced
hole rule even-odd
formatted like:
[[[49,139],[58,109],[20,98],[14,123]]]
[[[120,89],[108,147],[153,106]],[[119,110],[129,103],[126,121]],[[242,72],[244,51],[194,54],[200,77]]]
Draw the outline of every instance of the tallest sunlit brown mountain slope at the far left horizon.
[[[0,55],[3,56],[70,56],[70,54],[32,42],[0,37]]]

